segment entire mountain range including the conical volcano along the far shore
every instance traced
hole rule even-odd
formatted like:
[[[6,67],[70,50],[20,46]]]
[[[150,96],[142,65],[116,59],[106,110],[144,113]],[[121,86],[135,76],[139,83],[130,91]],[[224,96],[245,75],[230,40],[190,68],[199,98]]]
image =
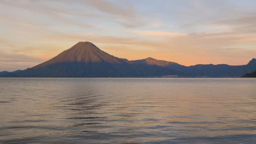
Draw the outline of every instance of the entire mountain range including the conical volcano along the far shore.
[[[183,66],[175,62],[117,58],[90,42],[79,42],[33,68],[0,72],[0,77],[240,77],[256,70],[256,59],[247,65]]]

